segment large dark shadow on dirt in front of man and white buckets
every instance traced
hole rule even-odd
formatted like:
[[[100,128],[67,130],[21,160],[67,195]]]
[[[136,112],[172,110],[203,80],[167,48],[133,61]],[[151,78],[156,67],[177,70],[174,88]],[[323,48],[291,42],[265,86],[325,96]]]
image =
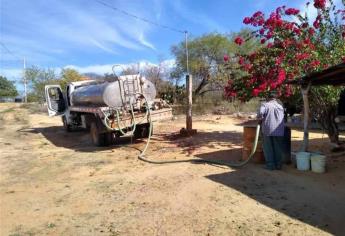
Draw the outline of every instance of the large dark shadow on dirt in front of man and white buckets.
[[[344,163],[342,165],[345,167]],[[289,217],[334,235],[345,235],[345,191],[334,191],[343,188],[343,183],[334,186],[331,178],[327,177],[326,180],[318,181],[327,174],[301,174],[292,167],[273,172],[257,167],[249,165],[237,171],[206,177]],[[332,171],[328,175],[344,178],[343,170]]]

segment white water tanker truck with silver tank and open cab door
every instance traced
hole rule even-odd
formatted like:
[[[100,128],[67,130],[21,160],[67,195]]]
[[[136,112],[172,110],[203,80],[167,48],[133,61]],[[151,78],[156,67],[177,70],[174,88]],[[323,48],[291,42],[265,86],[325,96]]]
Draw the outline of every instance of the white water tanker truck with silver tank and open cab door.
[[[154,84],[140,74],[118,76],[113,82],[72,82],[64,92],[59,85],[47,85],[45,97],[49,116],[60,115],[67,132],[90,130],[97,146],[120,136],[148,137],[151,122],[172,118],[172,109],[155,99]]]

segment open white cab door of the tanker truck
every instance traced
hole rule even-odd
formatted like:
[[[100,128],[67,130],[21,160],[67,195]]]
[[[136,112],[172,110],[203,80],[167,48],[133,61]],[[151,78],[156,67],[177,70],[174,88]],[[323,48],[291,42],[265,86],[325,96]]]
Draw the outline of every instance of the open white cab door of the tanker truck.
[[[66,111],[66,101],[59,85],[46,85],[45,97],[49,116],[61,115]]]

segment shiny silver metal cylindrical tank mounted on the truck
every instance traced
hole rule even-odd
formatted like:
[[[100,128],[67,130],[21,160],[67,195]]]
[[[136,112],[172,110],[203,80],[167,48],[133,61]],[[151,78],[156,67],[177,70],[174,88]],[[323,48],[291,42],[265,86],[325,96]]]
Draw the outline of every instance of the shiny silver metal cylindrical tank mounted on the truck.
[[[71,93],[72,106],[115,107],[133,104],[144,94],[148,102],[156,97],[154,84],[140,75],[118,77],[117,81],[76,87]]]

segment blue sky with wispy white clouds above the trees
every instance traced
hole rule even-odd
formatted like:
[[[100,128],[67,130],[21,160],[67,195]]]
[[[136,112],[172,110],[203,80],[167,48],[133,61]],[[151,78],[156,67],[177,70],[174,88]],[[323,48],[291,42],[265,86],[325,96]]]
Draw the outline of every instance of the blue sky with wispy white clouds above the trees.
[[[193,36],[240,30],[257,10],[300,7],[299,0],[101,0]],[[22,62],[44,68],[74,67],[80,72],[110,72],[112,64],[171,62],[170,47],[184,35],[165,30],[95,0],[0,0],[0,74],[18,80]]]

